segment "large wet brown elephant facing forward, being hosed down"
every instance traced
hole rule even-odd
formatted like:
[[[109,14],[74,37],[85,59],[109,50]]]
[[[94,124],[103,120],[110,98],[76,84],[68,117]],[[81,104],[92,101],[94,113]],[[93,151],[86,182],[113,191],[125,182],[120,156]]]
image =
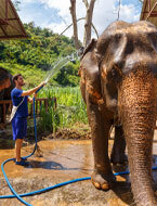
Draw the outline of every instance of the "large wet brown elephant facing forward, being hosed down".
[[[134,201],[138,206],[157,205],[152,177],[157,28],[146,21],[112,23],[84,49],[79,76],[92,134],[92,183],[101,190],[115,185],[110,163],[126,162],[127,144]],[[109,157],[112,127],[115,143]]]

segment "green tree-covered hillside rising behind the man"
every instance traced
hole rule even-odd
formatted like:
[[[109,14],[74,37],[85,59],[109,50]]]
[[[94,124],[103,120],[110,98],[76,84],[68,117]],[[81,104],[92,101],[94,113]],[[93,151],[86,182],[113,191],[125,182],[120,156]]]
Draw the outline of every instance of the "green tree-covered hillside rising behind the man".
[[[48,28],[36,27],[34,23],[24,24],[29,39],[0,41],[0,66],[12,75],[24,75],[27,87],[44,79],[53,65],[75,52],[74,41],[65,36],[58,37]],[[77,86],[79,63],[69,63],[51,80],[53,85]]]

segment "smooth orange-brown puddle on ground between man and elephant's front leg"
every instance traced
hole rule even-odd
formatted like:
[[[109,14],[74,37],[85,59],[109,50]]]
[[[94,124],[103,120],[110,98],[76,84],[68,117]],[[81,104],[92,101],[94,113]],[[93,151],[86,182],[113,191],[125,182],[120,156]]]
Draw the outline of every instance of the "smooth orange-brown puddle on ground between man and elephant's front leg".
[[[5,165],[8,177],[23,177],[29,173],[40,173],[40,176],[55,175],[62,172],[74,175],[91,175],[93,168],[91,141],[41,141],[39,142],[40,151],[43,156],[34,155],[28,158],[28,167],[16,166],[14,162]],[[23,156],[28,155],[32,146],[23,147]],[[0,150],[0,164],[14,157],[14,150]],[[1,175],[1,171],[0,171]]]

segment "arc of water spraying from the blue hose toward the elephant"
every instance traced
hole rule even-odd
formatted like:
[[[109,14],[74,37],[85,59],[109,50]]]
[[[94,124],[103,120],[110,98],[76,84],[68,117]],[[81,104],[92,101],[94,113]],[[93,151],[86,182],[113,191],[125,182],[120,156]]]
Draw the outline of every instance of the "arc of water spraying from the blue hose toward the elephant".
[[[78,50],[74,52],[70,55],[67,55],[66,57],[61,57],[57,62],[55,62],[54,66],[52,66],[51,70],[45,76],[44,82],[48,83],[48,81],[67,63],[73,62],[75,60],[79,60],[79,55],[81,53],[81,50]]]

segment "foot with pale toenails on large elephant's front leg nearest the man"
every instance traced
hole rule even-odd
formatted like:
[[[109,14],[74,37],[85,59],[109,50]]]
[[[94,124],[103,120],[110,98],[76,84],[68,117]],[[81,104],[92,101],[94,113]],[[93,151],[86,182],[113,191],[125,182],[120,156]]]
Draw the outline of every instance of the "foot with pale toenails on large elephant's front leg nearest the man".
[[[113,173],[104,175],[102,172],[93,172],[91,177],[92,183],[99,190],[109,190],[116,182],[116,177]]]

